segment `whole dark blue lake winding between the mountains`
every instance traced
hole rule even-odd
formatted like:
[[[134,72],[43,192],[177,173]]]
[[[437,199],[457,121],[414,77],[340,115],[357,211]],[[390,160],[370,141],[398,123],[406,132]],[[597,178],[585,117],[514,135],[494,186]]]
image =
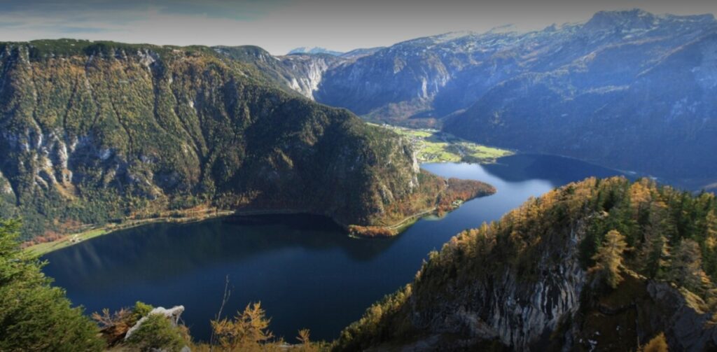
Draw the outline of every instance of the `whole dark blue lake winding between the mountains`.
[[[467,201],[441,219],[421,219],[390,239],[352,239],[327,219],[308,215],[150,224],[49,253],[44,272],[86,313],[118,310],[137,300],[184,305],[184,322],[204,341],[228,276],[225,314],[261,301],[275,336],[295,342],[297,330],[309,328],[312,339],[331,340],[371,303],[411,282],[427,253],[458,232],[497,220],[556,186],[618,174],[574,159],[533,155],[490,165],[422,167],[488,182],[498,193]]]

